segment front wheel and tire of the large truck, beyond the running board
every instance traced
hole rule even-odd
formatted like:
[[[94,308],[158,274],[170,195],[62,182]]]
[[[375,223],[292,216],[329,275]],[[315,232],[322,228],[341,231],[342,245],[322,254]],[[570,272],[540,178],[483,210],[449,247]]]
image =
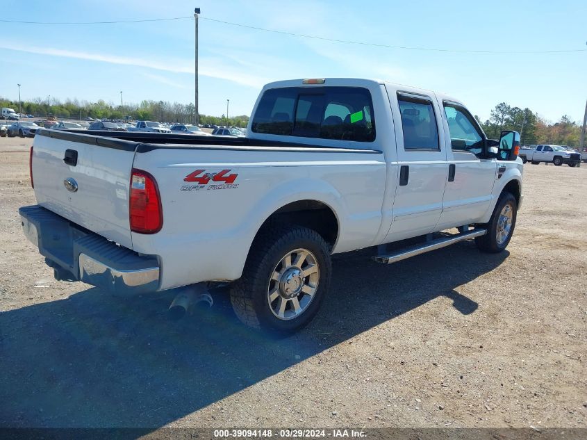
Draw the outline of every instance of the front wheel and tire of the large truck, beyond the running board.
[[[511,193],[502,193],[489,222],[483,225],[487,228],[487,234],[475,237],[475,244],[479,250],[490,254],[505,250],[513,235],[517,212],[518,203],[515,197]]]

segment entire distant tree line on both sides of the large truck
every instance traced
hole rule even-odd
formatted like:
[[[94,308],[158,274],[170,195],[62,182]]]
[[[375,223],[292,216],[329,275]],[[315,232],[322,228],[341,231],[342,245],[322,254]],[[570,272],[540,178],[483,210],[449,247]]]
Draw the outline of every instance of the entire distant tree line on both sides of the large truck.
[[[19,111],[16,101],[0,97],[1,107],[14,108]],[[59,99],[36,98],[33,101],[22,102],[22,113],[32,114],[38,117],[48,115],[58,118],[108,120],[154,120],[159,122],[180,122],[182,124],[195,122],[194,104],[179,104],[168,101],[141,101],[140,104],[124,104],[117,106],[106,103],[103,99],[97,102],[78,101],[77,99],[62,102]],[[521,145],[556,144],[579,146],[581,125],[563,115],[558,122],[549,122],[538,116],[529,108],[510,106],[501,102],[493,108],[490,117],[482,122],[476,115],[475,118],[489,138],[499,138],[502,130],[515,130],[521,135]],[[234,127],[246,127],[249,116],[238,115],[226,118],[222,116],[199,115],[200,124],[231,125]]]

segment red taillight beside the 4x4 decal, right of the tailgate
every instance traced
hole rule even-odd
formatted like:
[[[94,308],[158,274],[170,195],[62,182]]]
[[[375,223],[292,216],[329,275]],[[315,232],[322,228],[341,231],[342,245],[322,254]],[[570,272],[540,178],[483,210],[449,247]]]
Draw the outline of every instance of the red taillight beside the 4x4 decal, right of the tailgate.
[[[154,177],[146,171],[133,170],[129,202],[131,231],[155,234],[163,227],[163,211],[159,188]]]

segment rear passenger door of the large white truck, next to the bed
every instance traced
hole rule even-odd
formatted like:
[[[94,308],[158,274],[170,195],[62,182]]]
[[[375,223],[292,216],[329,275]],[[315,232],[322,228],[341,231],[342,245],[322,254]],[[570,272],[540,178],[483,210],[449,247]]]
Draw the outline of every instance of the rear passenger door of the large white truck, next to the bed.
[[[389,93],[397,145],[397,190],[384,242],[433,231],[442,212],[447,152],[436,99],[420,93]]]

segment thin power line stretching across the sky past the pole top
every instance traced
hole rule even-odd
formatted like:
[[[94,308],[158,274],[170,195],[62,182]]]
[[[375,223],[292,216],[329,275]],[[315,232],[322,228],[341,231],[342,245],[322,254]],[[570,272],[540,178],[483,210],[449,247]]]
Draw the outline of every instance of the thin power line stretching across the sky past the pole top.
[[[416,46],[399,46],[393,44],[380,44],[363,41],[352,41],[352,40],[338,40],[337,38],[320,37],[318,35],[307,35],[304,33],[293,33],[287,31],[278,31],[276,29],[261,28],[258,26],[251,26],[249,24],[226,22],[224,20],[214,19],[210,17],[199,18],[208,20],[208,22],[216,22],[221,24],[227,24],[229,26],[238,26],[240,28],[254,29],[255,31],[279,33],[281,35],[290,35],[292,37],[299,38],[311,38],[313,40],[322,40],[337,42],[343,44],[358,44],[361,46],[370,47],[384,47],[386,49],[402,49],[412,51],[433,51],[433,52],[454,52],[461,54],[568,54],[576,52],[586,52],[587,49],[560,49],[560,50],[540,50],[540,51],[498,51],[498,50],[469,50],[469,49],[445,49],[439,47],[416,47]],[[169,22],[172,20],[183,20],[183,19],[194,19],[192,16],[188,17],[170,17],[170,18],[154,18],[154,19],[136,19],[136,20],[115,20],[110,22],[25,22],[20,20],[6,20],[0,19],[2,23],[13,23],[13,24],[58,24],[58,25],[85,25],[85,24],[119,24],[119,23],[144,23],[144,22]]]

